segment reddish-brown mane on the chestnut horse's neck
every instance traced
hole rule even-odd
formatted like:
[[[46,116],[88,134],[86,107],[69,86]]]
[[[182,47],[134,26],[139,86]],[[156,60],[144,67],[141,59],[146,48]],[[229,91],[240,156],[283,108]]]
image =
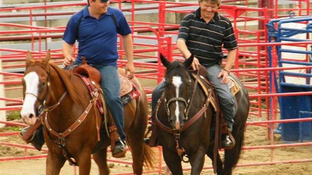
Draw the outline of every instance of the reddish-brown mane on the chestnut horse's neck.
[[[60,80],[65,85],[65,88],[74,103],[81,104],[80,102],[83,102],[86,100],[86,99],[83,99],[84,96],[82,96],[82,94],[85,93],[83,87],[78,88],[74,86],[73,84],[74,81],[72,81],[69,78],[71,76],[69,72],[64,71],[63,69],[59,68],[55,63],[49,62],[49,65],[55,70]]]

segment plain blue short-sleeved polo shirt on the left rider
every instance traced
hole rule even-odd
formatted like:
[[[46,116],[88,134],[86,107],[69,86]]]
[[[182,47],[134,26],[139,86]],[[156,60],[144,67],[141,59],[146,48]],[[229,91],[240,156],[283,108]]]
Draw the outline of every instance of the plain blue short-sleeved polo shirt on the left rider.
[[[71,16],[62,39],[68,44],[74,44],[76,40],[79,42],[77,62],[82,62],[81,57],[85,56],[89,64],[116,65],[117,33],[130,34],[129,24],[119,9],[108,7],[107,13],[96,19],[90,16],[88,7]],[[118,31],[112,14],[116,18]],[[77,32],[77,25],[82,16]]]

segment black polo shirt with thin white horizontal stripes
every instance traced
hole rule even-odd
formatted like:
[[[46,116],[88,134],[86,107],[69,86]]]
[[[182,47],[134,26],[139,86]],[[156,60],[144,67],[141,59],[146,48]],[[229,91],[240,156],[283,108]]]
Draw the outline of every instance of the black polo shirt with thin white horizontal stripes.
[[[183,39],[189,51],[203,66],[219,64],[223,58],[223,48],[238,48],[230,21],[215,12],[206,23],[200,16],[200,8],[186,15],[181,21],[178,39]]]

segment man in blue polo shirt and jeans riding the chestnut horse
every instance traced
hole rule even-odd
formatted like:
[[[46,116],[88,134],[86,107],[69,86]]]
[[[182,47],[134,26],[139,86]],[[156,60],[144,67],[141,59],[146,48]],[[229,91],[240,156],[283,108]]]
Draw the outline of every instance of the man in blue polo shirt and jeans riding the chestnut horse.
[[[108,0],[88,0],[88,6],[74,14],[68,21],[63,35],[64,66],[79,64],[82,56],[89,65],[101,73],[100,85],[105,100],[115,120],[119,141],[112,150],[114,157],[123,157],[126,153],[123,131],[123,105],[120,101],[120,81],[117,71],[117,33],[121,35],[123,48],[128,62],[125,66],[128,78],[134,76],[133,46],[131,29],[123,13],[109,7]],[[79,42],[78,54],[73,57],[73,44]],[[129,72],[129,73],[128,73]]]

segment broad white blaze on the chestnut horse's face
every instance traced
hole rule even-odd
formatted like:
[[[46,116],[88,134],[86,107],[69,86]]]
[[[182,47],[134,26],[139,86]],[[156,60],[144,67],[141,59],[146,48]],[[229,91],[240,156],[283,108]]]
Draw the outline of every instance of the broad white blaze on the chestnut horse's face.
[[[37,101],[36,97],[38,97],[39,76],[36,72],[30,72],[24,76],[24,80],[26,91],[23,108],[21,110],[21,117],[26,124],[33,125],[37,120],[35,103]],[[32,117],[30,118],[30,116]]]

